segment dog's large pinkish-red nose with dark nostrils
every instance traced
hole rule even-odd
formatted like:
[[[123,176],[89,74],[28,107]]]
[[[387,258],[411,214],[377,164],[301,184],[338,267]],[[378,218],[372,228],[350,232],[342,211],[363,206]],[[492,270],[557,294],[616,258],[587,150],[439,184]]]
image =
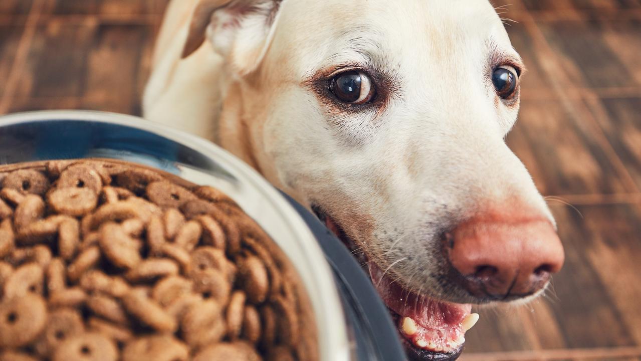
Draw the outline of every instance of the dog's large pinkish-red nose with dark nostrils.
[[[447,233],[456,278],[472,296],[517,299],[545,287],[563,265],[563,246],[547,219],[468,221]]]

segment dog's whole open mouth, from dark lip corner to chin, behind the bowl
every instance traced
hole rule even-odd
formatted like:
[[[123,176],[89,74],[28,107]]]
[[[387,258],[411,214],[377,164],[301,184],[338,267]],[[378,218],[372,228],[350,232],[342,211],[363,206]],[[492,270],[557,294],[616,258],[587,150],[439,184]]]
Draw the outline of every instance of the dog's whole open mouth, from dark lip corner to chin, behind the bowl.
[[[331,216],[316,207],[314,210],[349,249],[356,249],[356,244]],[[460,356],[465,332],[476,324],[479,317],[470,313],[472,305],[440,301],[407,290],[389,272],[383,272],[371,262],[365,253],[358,252],[355,256],[390,310],[410,360],[451,361]]]

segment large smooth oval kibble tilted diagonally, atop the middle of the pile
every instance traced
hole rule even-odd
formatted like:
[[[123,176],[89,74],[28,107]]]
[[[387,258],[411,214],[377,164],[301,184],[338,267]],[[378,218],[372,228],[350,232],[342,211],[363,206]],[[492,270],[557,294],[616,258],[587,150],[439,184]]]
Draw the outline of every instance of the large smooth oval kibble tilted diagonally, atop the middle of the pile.
[[[130,269],[140,263],[137,243],[118,224],[103,224],[98,242],[104,256],[116,267]]]

